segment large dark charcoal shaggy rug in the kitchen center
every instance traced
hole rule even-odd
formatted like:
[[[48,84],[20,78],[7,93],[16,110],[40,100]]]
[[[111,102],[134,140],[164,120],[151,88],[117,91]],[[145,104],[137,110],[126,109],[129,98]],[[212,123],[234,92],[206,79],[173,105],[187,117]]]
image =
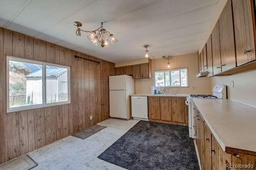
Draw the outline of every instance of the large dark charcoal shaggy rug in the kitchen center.
[[[188,127],[139,121],[98,158],[130,170],[199,170]]]

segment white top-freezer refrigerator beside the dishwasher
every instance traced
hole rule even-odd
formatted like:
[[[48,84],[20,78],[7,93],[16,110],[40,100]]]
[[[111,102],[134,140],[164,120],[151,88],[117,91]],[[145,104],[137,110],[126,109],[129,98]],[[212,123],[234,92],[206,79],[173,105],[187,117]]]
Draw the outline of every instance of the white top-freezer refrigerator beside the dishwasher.
[[[130,119],[130,94],[134,94],[132,76],[109,76],[110,117]]]

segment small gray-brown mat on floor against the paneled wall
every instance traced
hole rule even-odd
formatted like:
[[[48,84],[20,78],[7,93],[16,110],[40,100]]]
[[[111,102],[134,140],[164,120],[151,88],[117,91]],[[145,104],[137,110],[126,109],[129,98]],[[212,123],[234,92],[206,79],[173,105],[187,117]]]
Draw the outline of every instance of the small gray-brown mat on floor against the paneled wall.
[[[101,131],[104,128],[106,128],[106,126],[93,125],[93,126],[88,127],[82,131],[74,133],[72,136],[78,137],[80,139],[86,139],[86,138],[92,136],[93,134],[97,133],[98,131]]]

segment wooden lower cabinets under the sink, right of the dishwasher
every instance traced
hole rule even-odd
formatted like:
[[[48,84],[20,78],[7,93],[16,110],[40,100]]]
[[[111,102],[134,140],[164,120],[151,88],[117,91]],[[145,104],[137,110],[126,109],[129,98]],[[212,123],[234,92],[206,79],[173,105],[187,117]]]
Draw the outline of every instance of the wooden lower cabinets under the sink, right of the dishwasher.
[[[188,126],[185,97],[148,97],[149,121]]]

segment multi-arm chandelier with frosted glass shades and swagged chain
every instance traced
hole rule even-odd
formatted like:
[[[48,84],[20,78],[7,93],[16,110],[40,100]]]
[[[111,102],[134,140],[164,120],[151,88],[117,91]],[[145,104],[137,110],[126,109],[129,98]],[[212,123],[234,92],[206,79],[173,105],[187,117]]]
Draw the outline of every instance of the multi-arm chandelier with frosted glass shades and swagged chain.
[[[101,23],[101,26],[95,29],[94,31],[86,31],[83,29],[80,29],[82,26],[82,23],[75,21],[74,25],[76,25],[76,35],[81,36],[81,31],[89,33],[87,35],[87,38],[90,40],[90,43],[93,45],[96,45],[99,43],[100,46],[103,47],[109,47],[109,39],[111,41],[111,44],[116,44],[118,40],[114,37],[113,34],[110,32],[106,31],[106,29],[103,28],[103,22]]]

